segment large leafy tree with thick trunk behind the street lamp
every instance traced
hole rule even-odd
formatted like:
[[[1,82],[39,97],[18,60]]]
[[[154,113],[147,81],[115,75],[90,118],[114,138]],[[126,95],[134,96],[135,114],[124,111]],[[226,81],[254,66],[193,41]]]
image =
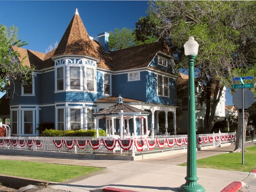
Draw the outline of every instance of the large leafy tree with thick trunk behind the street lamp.
[[[195,74],[199,103],[206,107],[205,132],[212,128],[222,90],[232,83],[233,70],[249,73],[255,67],[255,5],[249,1],[150,1],[150,24],[145,25],[143,19],[137,23],[137,38],[145,39],[141,35],[144,31],[146,36],[151,33],[163,38],[176,56],[179,69],[187,69],[183,44],[189,36],[199,43]]]

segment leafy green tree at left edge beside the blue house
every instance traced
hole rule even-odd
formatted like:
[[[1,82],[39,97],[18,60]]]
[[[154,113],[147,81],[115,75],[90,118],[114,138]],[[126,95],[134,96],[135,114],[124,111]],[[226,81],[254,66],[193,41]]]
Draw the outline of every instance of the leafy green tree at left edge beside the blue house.
[[[23,59],[15,58],[15,55],[20,56],[18,52],[12,51],[9,53],[10,47],[21,47],[27,45],[26,41],[18,39],[18,28],[14,25],[7,28],[0,24],[0,91],[4,91],[5,85],[9,81],[20,79],[29,82],[32,76],[33,68],[23,65]]]

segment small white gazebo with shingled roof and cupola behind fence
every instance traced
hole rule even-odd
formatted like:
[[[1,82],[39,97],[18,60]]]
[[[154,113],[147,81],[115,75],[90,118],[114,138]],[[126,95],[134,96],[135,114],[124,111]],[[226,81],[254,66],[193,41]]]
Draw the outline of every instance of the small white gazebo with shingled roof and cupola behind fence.
[[[148,120],[150,113],[123,103],[119,95],[117,104],[102,109],[93,115],[96,117],[96,128],[104,127],[108,136],[148,135]]]

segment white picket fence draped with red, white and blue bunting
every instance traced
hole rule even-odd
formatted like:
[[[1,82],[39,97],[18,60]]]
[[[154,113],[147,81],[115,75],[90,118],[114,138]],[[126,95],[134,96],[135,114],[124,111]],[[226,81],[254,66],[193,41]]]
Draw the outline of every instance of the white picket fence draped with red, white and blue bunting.
[[[197,146],[220,146],[235,142],[236,133],[197,134]],[[76,154],[140,155],[187,148],[187,135],[155,137],[0,137],[0,149],[33,150]]]

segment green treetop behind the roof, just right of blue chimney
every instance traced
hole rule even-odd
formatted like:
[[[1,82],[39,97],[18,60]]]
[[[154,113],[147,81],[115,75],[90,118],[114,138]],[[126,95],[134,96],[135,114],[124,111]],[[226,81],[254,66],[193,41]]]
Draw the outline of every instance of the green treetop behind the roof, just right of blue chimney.
[[[155,42],[156,38],[148,38],[146,41],[136,40],[135,34],[132,29],[116,28],[114,32],[109,32],[109,49],[111,51],[117,51],[129,47],[134,47],[142,44]]]

